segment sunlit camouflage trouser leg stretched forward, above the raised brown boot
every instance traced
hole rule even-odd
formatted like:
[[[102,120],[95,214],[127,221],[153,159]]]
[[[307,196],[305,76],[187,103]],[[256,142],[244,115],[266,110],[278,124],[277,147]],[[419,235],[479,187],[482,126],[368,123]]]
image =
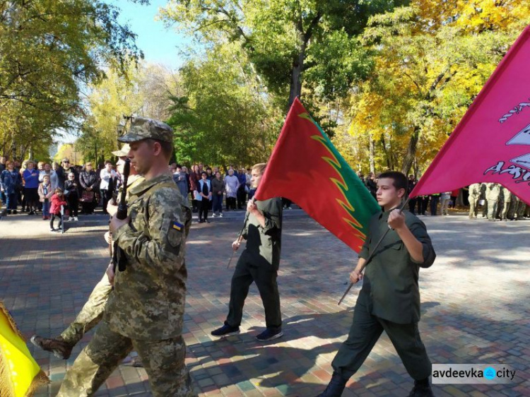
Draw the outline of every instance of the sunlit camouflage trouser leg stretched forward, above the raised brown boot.
[[[101,321],[111,291],[112,285],[110,285],[107,273],[105,273],[90,293],[88,301],[76,316],[76,319],[61,333],[61,337],[66,343],[71,346],[76,345],[85,333]]]

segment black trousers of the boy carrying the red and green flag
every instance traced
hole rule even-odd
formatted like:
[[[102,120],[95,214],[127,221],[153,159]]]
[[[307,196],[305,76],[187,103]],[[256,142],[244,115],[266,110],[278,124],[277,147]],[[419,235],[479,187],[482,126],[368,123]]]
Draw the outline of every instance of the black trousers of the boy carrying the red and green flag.
[[[225,324],[240,326],[243,316],[243,305],[249,293],[250,285],[255,282],[265,309],[267,328],[281,327],[280,293],[278,292],[278,272],[269,264],[251,263],[245,252],[240,256],[232,275],[230,287],[230,304]]]

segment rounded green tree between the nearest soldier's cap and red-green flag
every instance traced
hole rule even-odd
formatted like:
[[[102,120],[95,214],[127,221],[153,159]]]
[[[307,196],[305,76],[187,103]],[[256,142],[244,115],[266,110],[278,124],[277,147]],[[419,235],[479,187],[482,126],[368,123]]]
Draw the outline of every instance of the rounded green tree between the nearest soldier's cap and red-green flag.
[[[245,164],[266,160],[278,136],[278,114],[245,54],[219,45],[181,70],[185,96],[172,97],[177,162]]]

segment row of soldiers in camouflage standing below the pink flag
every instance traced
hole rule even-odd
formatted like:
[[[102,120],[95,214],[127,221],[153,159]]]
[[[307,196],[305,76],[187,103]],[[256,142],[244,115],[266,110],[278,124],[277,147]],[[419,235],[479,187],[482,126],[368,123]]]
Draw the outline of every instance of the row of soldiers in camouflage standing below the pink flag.
[[[488,220],[521,220],[529,218],[530,206],[500,184],[472,184],[469,186],[469,219],[477,218],[478,205]]]

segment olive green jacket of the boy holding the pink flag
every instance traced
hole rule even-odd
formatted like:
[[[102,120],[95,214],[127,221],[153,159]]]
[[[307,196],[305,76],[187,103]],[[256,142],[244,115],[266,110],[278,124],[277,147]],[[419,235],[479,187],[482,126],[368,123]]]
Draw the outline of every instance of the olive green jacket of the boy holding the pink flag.
[[[363,291],[370,295],[374,316],[397,324],[411,324],[420,320],[420,267],[431,266],[436,254],[425,224],[410,212],[403,213],[408,229],[423,244],[423,262],[414,261],[397,232],[390,230],[365,268]],[[389,229],[388,217],[388,211],[372,216],[360,258],[367,259]]]

